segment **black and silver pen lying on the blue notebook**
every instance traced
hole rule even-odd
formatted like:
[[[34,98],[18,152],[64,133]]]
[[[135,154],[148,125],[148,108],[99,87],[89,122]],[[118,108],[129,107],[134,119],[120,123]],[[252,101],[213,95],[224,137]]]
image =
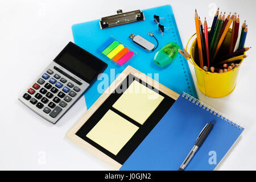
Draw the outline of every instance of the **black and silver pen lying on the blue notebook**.
[[[193,156],[196,154],[196,151],[201,147],[201,145],[204,143],[204,140],[208,137],[212,128],[213,128],[212,123],[207,123],[207,125],[205,125],[204,129],[201,131],[201,133],[197,137],[196,143],[194,144],[192,150],[189,152],[187,158],[185,158],[184,162],[181,164],[178,171],[183,171],[187,167],[188,163],[191,161]]]

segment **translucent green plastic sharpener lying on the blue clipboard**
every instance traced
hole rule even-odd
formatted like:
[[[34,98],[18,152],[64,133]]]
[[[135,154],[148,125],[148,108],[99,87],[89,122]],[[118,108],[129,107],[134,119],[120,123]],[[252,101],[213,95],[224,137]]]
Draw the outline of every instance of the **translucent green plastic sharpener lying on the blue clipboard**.
[[[156,52],[154,57],[154,63],[160,68],[164,68],[167,65],[171,64],[177,56],[178,50],[180,47],[174,42],[166,44],[158,52]]]

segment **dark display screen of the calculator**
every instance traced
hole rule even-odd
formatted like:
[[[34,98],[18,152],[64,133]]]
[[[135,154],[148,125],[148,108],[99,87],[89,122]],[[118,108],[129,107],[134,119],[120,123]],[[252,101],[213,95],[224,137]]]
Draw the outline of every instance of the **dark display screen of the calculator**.
[[[77,75],[85,77],[86,80],[92,80],[97,74],[97,71],[86,64],[85,61],[77,59],[68,52],[63,53],[63,55],[59,57],[58,62],[61,65],[65,65],[66,68],[68,67],[72,72],[78,73]]]

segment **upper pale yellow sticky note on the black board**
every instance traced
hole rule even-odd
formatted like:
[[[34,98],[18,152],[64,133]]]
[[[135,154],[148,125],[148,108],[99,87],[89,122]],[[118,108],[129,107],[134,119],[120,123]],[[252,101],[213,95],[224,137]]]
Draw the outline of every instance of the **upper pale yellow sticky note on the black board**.
[[[113,107],[143,125],[164,97],[134,80]]]

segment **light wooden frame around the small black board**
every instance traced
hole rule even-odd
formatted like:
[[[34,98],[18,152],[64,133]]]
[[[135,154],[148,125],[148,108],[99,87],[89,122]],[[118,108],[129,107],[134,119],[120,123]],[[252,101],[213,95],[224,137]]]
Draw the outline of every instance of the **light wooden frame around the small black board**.
[[[71,130],[65,135],[68,139],[72,140],[72,142],[76,143],[78,146],[84,148],[86,151],[90,152],[90,154],[96,156],[96,158],[102,160],[107,163],[109,166],[112,166],[114,169],[119,170],[122,167],[122,164],[118,163],[114,159],[110,158],[108,155],[104,154],[104,152],[98,150],[98,148],[92,146],[90,143],[81,139],[76,135],[77,131],[84,125],[86,121],[93,115],[95,111],[106,101],[106,99],[114,92],[119,84],[129,75],[134,75],[138,77],[140,80],[146,82],[157,88],[160,92],[166,94],[167,96],[177,100],[179,94],[168,89],[166,86],[159,84],[159,82],[153,80],[152,78],[144,75],[144,73],[139,72],[137,69],[133,67],[127,66],[126,69],[115,79],[115,81],[109,86],[108,89],[105,90],[104,93],[98,98],[96,102],[85,112],[84,115],[76,122],[76,124],[72,127]]]

